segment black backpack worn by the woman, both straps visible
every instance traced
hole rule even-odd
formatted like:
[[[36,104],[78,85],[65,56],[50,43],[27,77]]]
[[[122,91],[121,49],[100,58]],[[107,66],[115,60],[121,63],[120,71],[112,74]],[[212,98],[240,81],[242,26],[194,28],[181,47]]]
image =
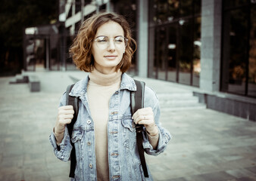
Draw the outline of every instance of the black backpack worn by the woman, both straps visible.
[[[144,108],[144,92],[145,92],[145,82],[143,81],[137,81],[134,80],[136,83],[137,90],[136,91],[131,91],[130,94],[130,103],[131,103],[131,112],[134,114],[138,109]],[[72,136],[72,131],[73,131],[73,124],[75,124],[77,115],[78,115],[78,110],[79,110],[79,104],[78,104],[78,97],[71,97],[69,95],[70,91],[72,90],[74,84],[71,84],[67,86],[67,92],[66,92],[66,97],[67,97],[67,104],[66,105],[72,105],[73,110],[74,110],[74,115],[73,119],[70,122],[70,124],[67,124],[67,130],[70,135],[70,138]],[[144,155],[144,149],[142,146],[142,141],[143,141],[143,125],[142,124],[136,124],[136,142],[139,150],[139,158],[142,164],[142,169],[144,172],[144,176],[148,177],[148,169],[145,164],[145,155]],[[75,169],[76,169],[76,151],[75,151],[75,146],[73,145],[72,142],[70,142],[73,149],[71,150],[70,153],[70,177],[74,178],[75,176]]]

